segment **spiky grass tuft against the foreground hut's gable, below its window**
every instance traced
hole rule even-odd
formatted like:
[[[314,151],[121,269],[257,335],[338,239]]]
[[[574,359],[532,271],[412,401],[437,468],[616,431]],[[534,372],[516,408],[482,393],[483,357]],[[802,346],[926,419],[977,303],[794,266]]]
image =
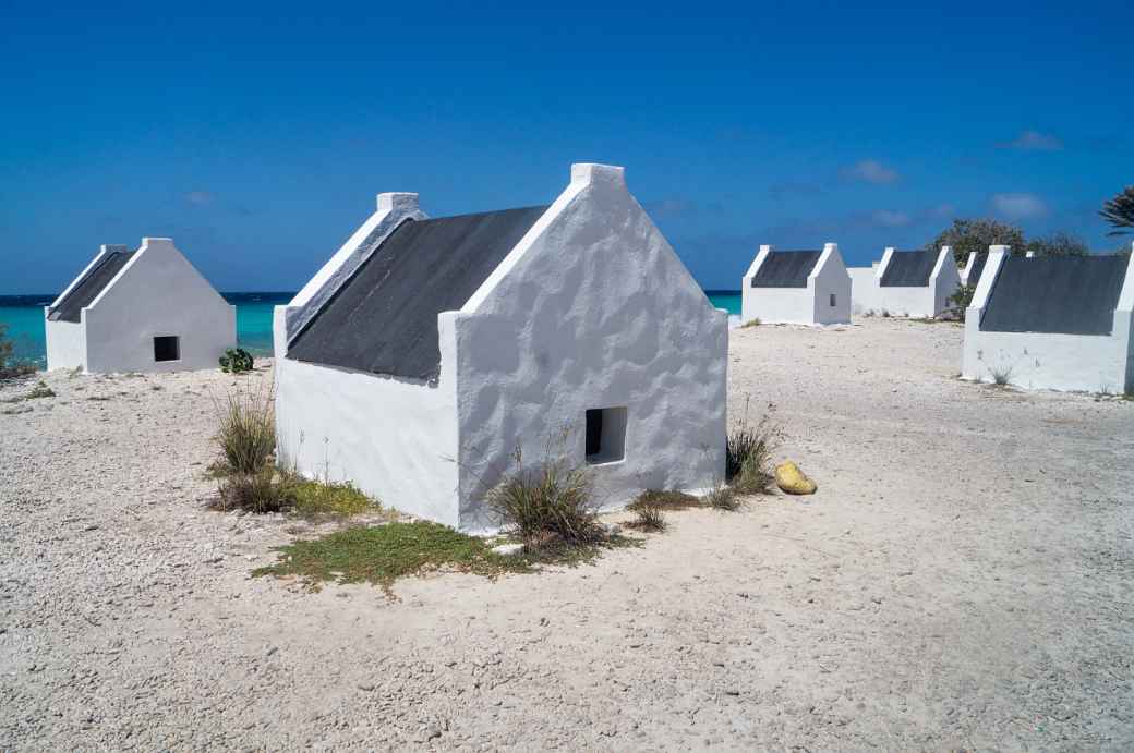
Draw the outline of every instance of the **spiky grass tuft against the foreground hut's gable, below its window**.
[[[521,463],[518,452],[516,462]],[[505,477],[489,491],[485,502],[505,530],[532,550],[606,538],[592,500],[590,472],[568,467],[564,460],[549,460]]]

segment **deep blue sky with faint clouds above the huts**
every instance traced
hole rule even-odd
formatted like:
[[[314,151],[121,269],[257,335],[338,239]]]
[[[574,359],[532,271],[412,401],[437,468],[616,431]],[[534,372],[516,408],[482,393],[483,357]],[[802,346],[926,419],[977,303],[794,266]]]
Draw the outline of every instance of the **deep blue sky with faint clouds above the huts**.
[[[0,294],[171,236],[297,289],[373,210],[551,201],[623,164],[696,278],[761,243],[866,264],[953,217],[1067,230],[1134,184],[1129,3],[8,5]]]

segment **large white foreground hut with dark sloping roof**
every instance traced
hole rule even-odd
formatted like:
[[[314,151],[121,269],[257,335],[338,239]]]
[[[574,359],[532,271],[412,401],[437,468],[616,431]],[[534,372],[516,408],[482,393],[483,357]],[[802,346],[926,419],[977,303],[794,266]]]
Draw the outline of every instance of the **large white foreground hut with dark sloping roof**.
[[[550,206],[426,219],[378,211],[276,310],[281,459],[464,531],[545,460],[598,502],[725,473],[727,313],[621,168],[575,164]],[[516,457],[519,457],[518,463]]]

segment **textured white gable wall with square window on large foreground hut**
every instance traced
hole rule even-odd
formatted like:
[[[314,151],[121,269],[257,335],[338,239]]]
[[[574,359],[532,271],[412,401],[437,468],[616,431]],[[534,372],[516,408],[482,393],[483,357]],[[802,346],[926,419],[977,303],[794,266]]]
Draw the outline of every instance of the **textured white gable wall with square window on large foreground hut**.
[[[525,465],[584,463],[587,408],[628,411],[625,459],[590,466],[603,507],[723,479],[727,314],[620,168],[574,166],[572,178],[456,316],[463,530],[497,525],[483,493],[517,448]]]

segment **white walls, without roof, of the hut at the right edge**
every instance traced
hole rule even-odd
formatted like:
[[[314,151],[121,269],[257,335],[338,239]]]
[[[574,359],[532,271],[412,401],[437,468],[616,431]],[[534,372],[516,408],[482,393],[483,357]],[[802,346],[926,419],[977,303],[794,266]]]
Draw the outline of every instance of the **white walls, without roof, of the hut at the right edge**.
[[[991,246],[984,271],[965,311],[965,344],[962,378],[996,381],[996,373],[1024,389],[1123,392],[1134,389],[1132,372],[1132,310],[1134,310],[1134,262],[1115,311],[1110,335],[1063,335],[1053,332],[985,332],[981,315],[1007,246]]]

